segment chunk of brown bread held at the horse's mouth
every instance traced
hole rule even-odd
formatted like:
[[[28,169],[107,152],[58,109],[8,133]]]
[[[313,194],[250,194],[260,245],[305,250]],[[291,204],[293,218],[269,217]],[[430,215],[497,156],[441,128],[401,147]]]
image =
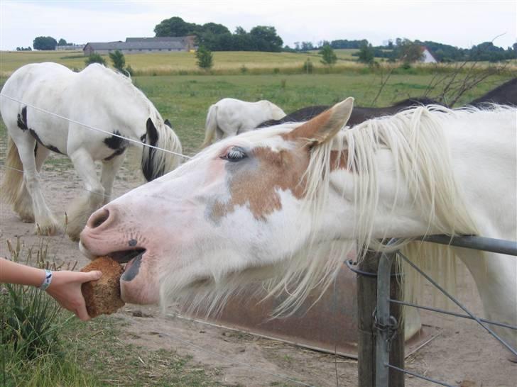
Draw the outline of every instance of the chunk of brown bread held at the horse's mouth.
[[[110,257],[98,257],[83,267],[81,271],[102,271],[97,281],[85,282],[81,286],[85,297],[86,309],[91,318],[98,315],[109,315],[124,306],[120,298],[120,276],[124,268]]]

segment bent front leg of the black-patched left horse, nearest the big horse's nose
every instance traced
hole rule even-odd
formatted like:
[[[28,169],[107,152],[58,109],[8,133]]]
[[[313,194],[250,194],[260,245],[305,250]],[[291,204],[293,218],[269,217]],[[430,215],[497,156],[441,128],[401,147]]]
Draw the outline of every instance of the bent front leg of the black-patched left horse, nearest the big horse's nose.
[[[99,181],[92,156],[80,148],[70,155],[77,174],[85,183],[85,194],[76,198],[67,211],[66,233],[72,240],[79,240],[89,215],[102,205],[104,187]]]

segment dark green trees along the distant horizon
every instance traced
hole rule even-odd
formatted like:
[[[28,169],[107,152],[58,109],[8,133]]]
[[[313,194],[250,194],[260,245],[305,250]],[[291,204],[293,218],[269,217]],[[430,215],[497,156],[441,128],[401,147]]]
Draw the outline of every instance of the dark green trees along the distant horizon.
[[[360,62],[369,62],[371,57],[385,58],[388,61],[399,60],[406,51],[417,49],[414,46],[428,47],[438,62],[468,62],[489,61],[499,62],[517,58],[517,43],[512,47],[497,47],[492,42],[484,42],[470,48],[459,48],[452,45],[432,42],[430,40],[408,40],[396,38],[388,40],[385,45],[374,46],[366,39],[360,40],[322,40],[317,44],[309,41],[295,42],[294,47],[283,45],[283,40],[276,33],[273,26],[255,26],[249,32],[237,27],[234,32],[218,23],[189,23],[183,18],[173,16],[158,23],[154,28],[156,37],[195,35],[198,47],[205,47],[209,51],[266,51],[266,52],[306,52],[322,50],[323,47],[337,49],[360,50],[352,55],[357,56]],[[38,36],[33,41],[36,50],[55,50],[60,45],[72,45],[65,39],[55,40],[51,36]],[[17,50],[31,50],[31,47],[17,47]],[[411,56],[411,55],[410,55]]]

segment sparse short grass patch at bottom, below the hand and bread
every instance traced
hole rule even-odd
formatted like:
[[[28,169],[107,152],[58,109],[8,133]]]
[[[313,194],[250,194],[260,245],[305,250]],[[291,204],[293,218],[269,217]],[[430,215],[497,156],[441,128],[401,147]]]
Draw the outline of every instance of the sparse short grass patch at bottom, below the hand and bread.
[[[222,386],[220,371],[195,364],[192,357],[168,349],[130,344],[124,320],[102,316],[87,323],[73,320],[64,332],[70,355],[100,386]]]

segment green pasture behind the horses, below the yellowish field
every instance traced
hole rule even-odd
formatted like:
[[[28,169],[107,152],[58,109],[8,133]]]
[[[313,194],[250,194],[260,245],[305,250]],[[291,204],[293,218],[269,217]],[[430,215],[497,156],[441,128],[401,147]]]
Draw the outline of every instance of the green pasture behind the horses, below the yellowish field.
[[[410,96],[421,96],[431,79],[432,74],[392,75],[376,105],[388,106]],[[506,79],[508,77],[491,77],[467,92],[459,100],[459,106]],[[267,99],[287,113],[305,106],[330,105],[348,96],[354,96],[357,106],[371,106],[380,83],[381,75],[376,72],[134,77],[134,84],[153,101],[162,116],[173,123],[187,154],[197,152],[205,133],[208,107],[219,99]]]

